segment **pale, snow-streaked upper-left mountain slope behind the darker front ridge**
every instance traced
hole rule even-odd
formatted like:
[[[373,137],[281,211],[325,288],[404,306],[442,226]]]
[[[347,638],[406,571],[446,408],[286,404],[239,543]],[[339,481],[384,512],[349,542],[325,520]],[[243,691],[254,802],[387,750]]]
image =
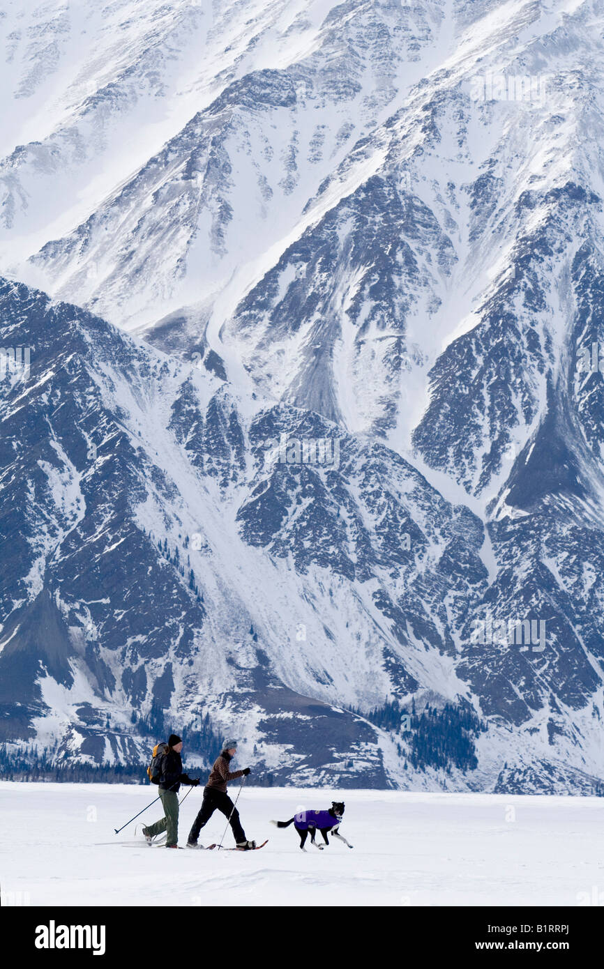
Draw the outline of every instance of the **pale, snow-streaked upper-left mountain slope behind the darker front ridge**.
[[[23,257],[42,232],[47,241],[55,226],[67,231],[43,247],[41,278],[111,319],[119,307],[120,325],[131,326],[156,320],[160,303],[215,298],[256,257],[258,225],[269,245],[295,229],[375,112],[421,76],[402,65],[418,60],[442,19],[437,4],[402,20],[396,3],[181,2],[142,17],[139,6],[132,19],[128,3],[114,4],[109,20],[93,16],[75,64],[80,24],[61,9],[67,64],[48,68],[56,110],[44,140],[36,132],[7,147],[4,162],[7,262],[16,234]],[[20,107],[32,53],[17,50]],[[49,186],[60,189],[50,200]]]

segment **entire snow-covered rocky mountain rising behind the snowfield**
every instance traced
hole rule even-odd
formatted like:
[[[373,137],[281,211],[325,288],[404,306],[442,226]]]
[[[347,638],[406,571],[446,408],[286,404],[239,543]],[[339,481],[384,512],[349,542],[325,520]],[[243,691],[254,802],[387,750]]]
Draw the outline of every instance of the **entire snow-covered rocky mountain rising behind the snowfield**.
[[[598,790],[602,5],[2,13],[7,749]]]

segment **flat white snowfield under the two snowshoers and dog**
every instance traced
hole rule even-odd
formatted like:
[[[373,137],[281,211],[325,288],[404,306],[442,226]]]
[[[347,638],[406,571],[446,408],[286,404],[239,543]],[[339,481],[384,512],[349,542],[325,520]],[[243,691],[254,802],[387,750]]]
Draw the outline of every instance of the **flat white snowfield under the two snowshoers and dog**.
[[[186,793],[186,788],[181,793]],[[231,794],[237,794],[232,786]],[[154,795],[121,784],[0,782],[3,904],[31,905],[581,905],[604,901],[604,801],[245,787],[246,834],[258,852],[170,852],[118,828]],[[303,854],[302,808],[346,802],[342,834]],[[180,844],[202,800],[180,812]],[[159,802],[143,819],[161,817]],[[136,822],[138,823],[138,822]],[[135,823],[135,824],[136,824]],[[215,814],[201,841],[219,841]],[[233,845],[231,831],[225,844]],[[599,893],[602,892],[601,896]]]

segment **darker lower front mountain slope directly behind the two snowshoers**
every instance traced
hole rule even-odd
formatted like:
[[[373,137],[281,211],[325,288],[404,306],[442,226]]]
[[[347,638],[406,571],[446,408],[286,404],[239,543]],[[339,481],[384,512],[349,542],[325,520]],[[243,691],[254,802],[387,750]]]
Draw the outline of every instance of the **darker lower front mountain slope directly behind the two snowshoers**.
[[[517,772],[546,751],[563,783],[570,752],[596,772],[597,631],[573,629],[576,565],[557,580],[525,568],[543,555],[543,515],[493,531],[507,564],[490,582],[481,521],[383,444],[234,396],[23,286],[4,282],[0,300],[4,342],[35,350],[28,379],[13,370],[2,388],[7,740],[128,763],[148,745],[133,711],[159,708],[191,727],[208,713],[274,778],[408,784],[402,759],[421,751],[420,783],[494,786],[512,728]],[[319,441],[331,462],[290,462],[296,442]],[[593,529],[575,530],[546,536],[560,571],[571,543],[586,565],[602,555]],[[471,619],[491,609],[547,615],[547,651],[472,643]],[[386,697],[428,703],[424,719],[393,739],[347,712]],[[479,766],[455,769],[454,744],[448,776],[429,709],[464,698],[489,729],[458,724]]]

